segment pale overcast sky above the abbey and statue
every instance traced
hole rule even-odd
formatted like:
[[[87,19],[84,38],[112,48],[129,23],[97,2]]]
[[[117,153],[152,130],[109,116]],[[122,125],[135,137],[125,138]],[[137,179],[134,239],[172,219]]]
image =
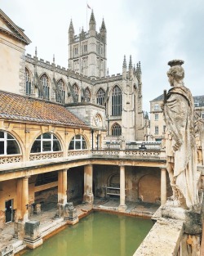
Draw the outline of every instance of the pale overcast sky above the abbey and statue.
[[[169,89],[168,61],[184,60],[185,86],[193,96],[204,94],[204,1],[203,0],[88,0],[96,29],[102,19],[107,29],[109,74],[122,73],[123,56],[141,62],[144,110],[149,101]],[[86,0],[0,0],[0,8],[32,43],[26,53],[68,67],[68,29],[86,31],[91,10]],[[87,16],[86,16],[87,13]]]

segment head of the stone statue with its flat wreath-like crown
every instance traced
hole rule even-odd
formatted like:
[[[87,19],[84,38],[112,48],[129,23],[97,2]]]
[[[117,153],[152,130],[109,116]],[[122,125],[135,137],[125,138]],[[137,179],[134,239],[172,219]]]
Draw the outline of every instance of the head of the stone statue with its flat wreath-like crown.
[[[170,70],[167,72],[167,76],[169,78],[169,83],[171,86],[182,86],[184,85],[184,69],[181,66],[184,64],[184,61],[181,60],[173,60],[169,61],[168,65],[171,66]]]

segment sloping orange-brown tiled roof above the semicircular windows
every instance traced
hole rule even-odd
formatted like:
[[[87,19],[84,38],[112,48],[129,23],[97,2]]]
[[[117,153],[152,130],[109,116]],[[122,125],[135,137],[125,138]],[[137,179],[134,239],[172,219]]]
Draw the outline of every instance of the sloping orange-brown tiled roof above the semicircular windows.
[[[64,106],[0,91],[0,118],[88,128]]]

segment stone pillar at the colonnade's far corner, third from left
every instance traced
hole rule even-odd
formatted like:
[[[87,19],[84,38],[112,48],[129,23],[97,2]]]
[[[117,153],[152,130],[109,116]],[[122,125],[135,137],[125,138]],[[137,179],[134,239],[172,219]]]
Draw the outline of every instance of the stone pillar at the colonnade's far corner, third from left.
[[[93,184],[93,165],[87,164],[84,166],[83,201],[89,204],[92,204],[94,201],[92,184]]]

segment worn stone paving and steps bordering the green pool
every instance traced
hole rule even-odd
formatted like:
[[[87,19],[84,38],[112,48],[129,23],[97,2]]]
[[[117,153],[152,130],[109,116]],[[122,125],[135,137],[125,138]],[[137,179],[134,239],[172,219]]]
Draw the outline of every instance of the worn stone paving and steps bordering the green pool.
[[[93,209],[107,211],[110,213],[118,213],[119,203],[119,200],[95,199]],[[86,215],[92,210],[91,204],[78,204],[77,200],[75,201],[74,205],[77,209],[79,219],[86,217]],[[159,207],[157,204],[135,203],[130,201],[126,201],[126,205],[126,212],[119,214],[140,216],[144,218],[151,218],[153,213],[155,213]],[[29,220],[40,221],[40,230],[43,239],[45,239],[45,237],[54,235],[56,231],[59,231],[60,228],[67,225],[63,218],[55,218],[56,210],[56,203],[42,204],[41,213],[32,214],[29,217]],[[3,230],[0,230],[0,249],[6,246],[9,247],[10,245],[13,246],[15,254],[26,247],[23,240],[17,240],[14,238],[14,222],[8,223]]]

